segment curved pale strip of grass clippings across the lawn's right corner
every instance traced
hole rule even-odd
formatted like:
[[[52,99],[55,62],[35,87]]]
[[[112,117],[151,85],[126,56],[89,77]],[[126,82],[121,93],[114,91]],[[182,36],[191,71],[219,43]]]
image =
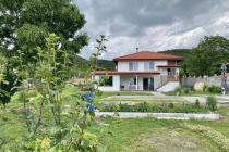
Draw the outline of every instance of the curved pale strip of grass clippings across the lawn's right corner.
[[[185,128],[201,132],[203,136],[209,138],[213,142],[215,142],[219,148],[225,151],[229,151],[229,139],[226,138],[221,132],[218,132],[210,127],[202,126],[202,125],[184,125]]]

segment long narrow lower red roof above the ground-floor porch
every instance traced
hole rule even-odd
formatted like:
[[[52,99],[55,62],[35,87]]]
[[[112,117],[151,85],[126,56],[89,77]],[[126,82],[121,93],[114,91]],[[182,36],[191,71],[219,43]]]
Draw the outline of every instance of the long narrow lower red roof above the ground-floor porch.
[[[160,74],[159,72],[118,72],[118,71],[96,71],[95,75],[144,75],[144,74]]]

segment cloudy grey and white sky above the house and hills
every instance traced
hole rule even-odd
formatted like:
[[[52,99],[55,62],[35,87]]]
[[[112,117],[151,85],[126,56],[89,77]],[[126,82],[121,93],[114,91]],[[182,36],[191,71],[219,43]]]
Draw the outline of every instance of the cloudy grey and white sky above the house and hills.
[[[82,31],[89,45],[81,55],[95,52],[95,40],[106,35],[101,59],[141,51],[195,47],[204,36],[229,38],[229,0],[75,0],[87,21]]]

